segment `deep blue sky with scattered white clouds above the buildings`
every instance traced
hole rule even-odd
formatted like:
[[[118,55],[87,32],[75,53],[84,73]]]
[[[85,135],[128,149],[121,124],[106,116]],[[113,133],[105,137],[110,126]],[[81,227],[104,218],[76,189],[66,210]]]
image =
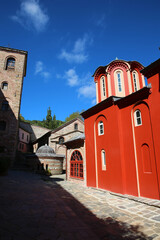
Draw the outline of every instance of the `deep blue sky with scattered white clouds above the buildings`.
[[[92,75],[112,60],[160,57],[159,0],[1,1],[0,45],[28,51],[21,114],[58,120],[95,104]]]

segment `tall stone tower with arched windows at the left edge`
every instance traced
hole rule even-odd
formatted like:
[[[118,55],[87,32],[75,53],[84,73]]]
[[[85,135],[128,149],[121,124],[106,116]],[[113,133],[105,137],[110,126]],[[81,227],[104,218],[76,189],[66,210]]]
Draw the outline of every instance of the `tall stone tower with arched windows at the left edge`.
[[[0,157],[13,162],[18,140],[18,116],[27,52],[0,47]]]

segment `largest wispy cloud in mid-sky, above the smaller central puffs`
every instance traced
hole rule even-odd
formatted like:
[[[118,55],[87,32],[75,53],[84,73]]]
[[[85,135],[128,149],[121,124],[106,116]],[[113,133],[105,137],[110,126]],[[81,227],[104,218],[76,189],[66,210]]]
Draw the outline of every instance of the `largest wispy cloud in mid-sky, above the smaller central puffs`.
[[[73,49],[70,52],[62,49],[59,58],[65,59],[68,63],[83,63],[88,59],[88,55],[85,53],[86,45],[91,42],[92,39],[89,38],[88,35],[84,35],[83,38],[76,40]]]

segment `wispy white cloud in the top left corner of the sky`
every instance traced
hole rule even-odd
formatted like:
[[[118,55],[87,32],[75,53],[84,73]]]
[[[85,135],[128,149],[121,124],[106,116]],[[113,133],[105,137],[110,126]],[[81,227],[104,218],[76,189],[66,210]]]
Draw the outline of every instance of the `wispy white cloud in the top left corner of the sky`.
[[[11,17],[23,27],[33,27],[37,32],[43,31],[49,21],[48,15],[39,4],[39,0],[22,0],[20,10]]]

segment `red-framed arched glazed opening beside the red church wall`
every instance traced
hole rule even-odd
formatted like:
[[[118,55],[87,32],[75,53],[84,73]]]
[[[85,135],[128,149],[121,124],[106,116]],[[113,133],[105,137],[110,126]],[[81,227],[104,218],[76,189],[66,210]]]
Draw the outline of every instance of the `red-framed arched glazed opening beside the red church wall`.
[[[70,176],[83,179],[83,158],[78,150],[75,150],[71,155]]]

